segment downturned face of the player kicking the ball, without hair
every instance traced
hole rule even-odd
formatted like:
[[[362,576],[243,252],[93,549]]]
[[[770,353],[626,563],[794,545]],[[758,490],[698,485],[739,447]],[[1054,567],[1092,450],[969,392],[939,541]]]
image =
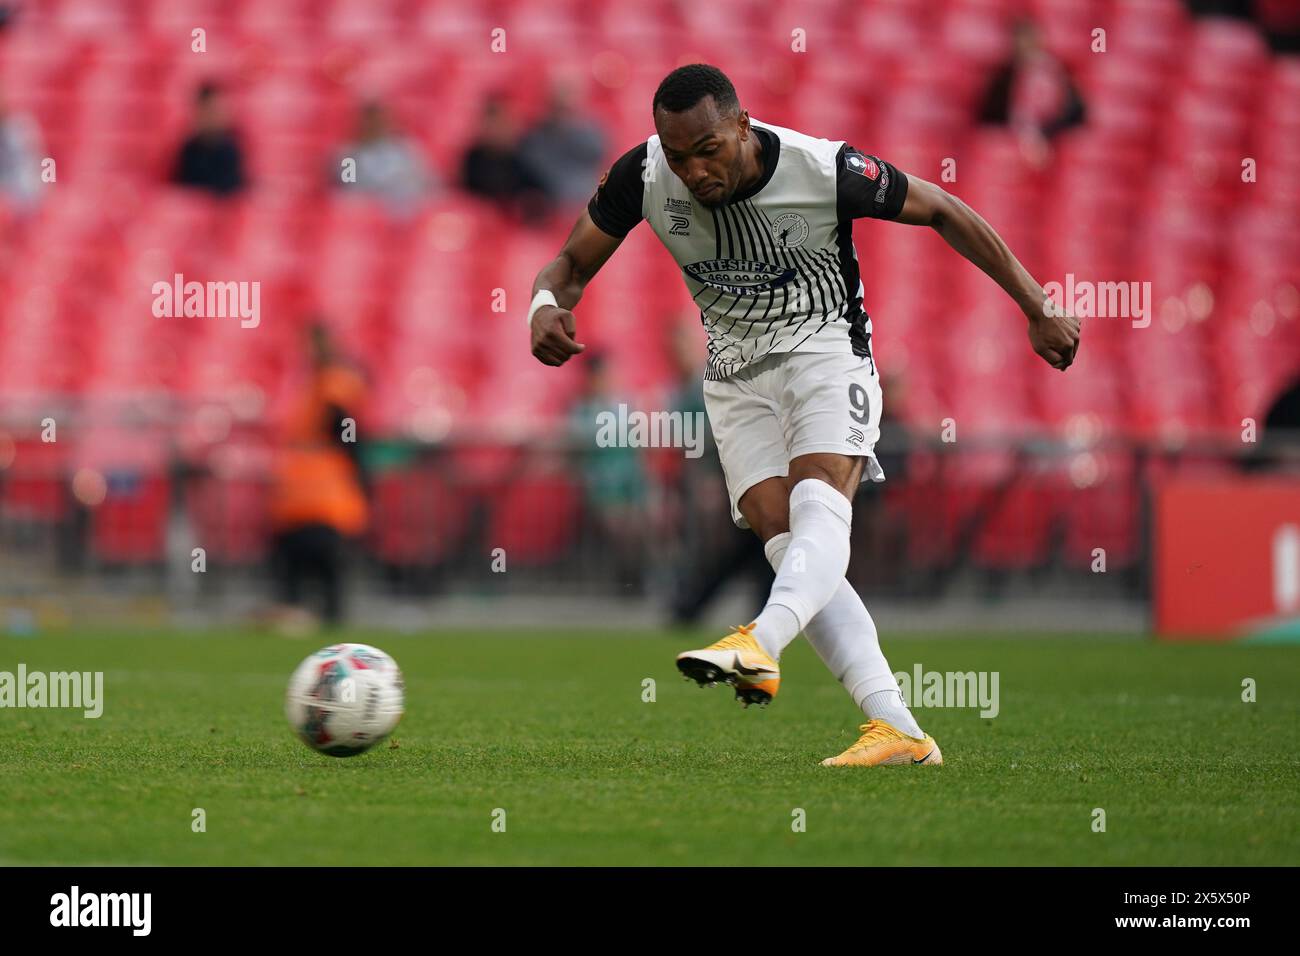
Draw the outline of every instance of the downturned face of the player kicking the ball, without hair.
[[[725,204],[740,189],[749,113],[742,109],[737,116],[723,116],[714,98],[706,96],[680,113],[656,109],[654,118],[668,168],[696,202]]]

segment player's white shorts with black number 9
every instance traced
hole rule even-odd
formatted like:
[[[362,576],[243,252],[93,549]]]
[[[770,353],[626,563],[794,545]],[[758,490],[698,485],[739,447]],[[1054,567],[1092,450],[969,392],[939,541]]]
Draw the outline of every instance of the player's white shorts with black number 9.
[[[863,481],[884,481],[880,378],[852,352],[779,352],[722,381],[705,381],[705,408],[727,479],[732,520],[745,492],[789,475],[790,459],[820,451],[864,457]]]

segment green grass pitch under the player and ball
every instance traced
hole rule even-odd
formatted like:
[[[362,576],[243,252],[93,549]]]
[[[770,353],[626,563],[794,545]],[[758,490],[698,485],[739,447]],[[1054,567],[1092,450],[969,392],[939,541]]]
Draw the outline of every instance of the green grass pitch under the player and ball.
[[[818,761],[861,715],[811,649],[786,653],[771,708],[744,710],[673,667],[714,637],[339,635],[391,653],[407,680],[396,745],[348,760],[311,752],[282,713],[289,674],[329,637],[0,637],[0,671],[105,672],[99,719],[0,710],[0,864],[1300,858],[1295,648],[896,639],[896,671],[998,671],[1001,713],[918,710],[942,767],[832,770]]]

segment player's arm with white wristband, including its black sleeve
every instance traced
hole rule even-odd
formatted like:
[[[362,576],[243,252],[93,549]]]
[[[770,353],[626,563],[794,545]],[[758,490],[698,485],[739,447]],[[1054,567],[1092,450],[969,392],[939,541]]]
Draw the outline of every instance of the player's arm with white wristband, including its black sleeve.
[[[559,255],[533,281],[534,297],[545,289],[556,303],[540,307],[529,323],[533,356],[543,365],[563,365],[586,347],[575,338],[572,310],[586,284],[641,221],[645,157],[645,143],[619,157],[601,178]]]

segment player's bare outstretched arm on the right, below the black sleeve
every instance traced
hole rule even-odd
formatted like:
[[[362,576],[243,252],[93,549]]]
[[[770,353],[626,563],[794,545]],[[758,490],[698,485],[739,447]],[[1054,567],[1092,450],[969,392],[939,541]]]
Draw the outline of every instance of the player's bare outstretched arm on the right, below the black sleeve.
[[[932,182],[906,173],[900,176],[906,179],[907,196],[896,221],[930,226],[1002,286],[1030,320],[1034,351],[1053,368],[1062,372],[1069,368],[1079,351],[1079,320],[1050,307],[1043,286],[975,209]]]

